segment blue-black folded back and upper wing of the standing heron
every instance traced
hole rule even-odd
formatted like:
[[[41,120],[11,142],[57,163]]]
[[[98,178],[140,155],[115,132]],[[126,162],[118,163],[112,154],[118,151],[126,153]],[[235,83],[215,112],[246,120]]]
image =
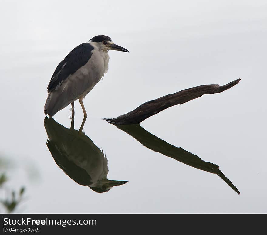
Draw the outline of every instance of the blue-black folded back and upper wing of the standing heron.
[[[47,92],[57,90],[69,75],[84,66],[91,58],[93,49],[93,46],[89,43],[82,43],[76,46],[56,67],[48,84]]]

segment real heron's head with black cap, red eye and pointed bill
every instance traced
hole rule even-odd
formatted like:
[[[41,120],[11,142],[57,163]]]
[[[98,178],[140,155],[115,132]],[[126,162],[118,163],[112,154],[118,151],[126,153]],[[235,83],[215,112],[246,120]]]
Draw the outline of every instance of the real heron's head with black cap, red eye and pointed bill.
[[[88,43],[91,43],[93,46],[96,46],[98,49],[103,51],[114,50],[114,51],[129,52],[122,46],[118,46],[115,43],[113,43],[111,38],[105,35],[95,36],[92,39],[90,39]]]

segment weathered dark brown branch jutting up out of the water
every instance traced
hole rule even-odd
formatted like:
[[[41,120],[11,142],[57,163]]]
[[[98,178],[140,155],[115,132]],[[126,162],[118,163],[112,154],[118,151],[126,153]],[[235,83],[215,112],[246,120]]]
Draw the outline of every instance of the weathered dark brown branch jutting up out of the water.
[[[215,94],[223,92],[233,86],[235,86],[240,79],[232,81],[226,85],[202,85],[198,87],[192,87],[186,90],[178,91],[174,94],[165,95],[156,100],[150,100],[141,104],[139,107],[130,111],[127,114],[123,114],[117,118],[103,118],[111,123],[128,125],[139,124],[145,119],[163,111],[166,108],[172,107],[177,104],[184,104],[190,100],[201,97],[204,94]]]

